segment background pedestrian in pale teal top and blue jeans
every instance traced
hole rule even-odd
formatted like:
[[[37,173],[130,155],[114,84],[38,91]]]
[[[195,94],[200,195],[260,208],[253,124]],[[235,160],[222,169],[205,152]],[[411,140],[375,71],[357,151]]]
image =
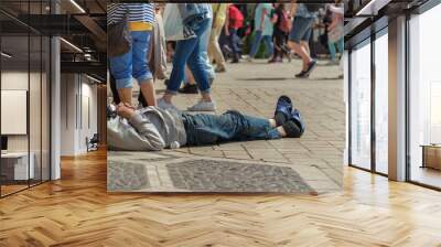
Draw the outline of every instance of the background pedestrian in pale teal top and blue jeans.
[[[263,41],[266,45],[266,56],[270,57],[272,55],[272,23],[270,19],[271,11],[271,3],[258,3],[256,7],[255,37],[252,41],[251,50],[247,57],[248,61],[252,61],[252,58],[255,58],[261,41]]]

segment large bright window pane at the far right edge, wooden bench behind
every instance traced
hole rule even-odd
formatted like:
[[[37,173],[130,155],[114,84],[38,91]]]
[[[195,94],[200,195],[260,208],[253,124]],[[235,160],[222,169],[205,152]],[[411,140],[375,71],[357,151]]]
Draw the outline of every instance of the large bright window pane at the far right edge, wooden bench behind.
[[[410,20],[410,179],[441,187],[441,4]],[[426,147],[423,147],[426,146]]]

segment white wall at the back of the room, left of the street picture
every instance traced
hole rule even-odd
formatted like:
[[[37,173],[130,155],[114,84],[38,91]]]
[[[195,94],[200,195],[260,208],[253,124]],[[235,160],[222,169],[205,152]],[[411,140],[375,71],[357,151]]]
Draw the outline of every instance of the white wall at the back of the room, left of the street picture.
[[[62,155],[86,153],[86,138],[97,132],[97,86],[92,83],[84,75],[62,74]]]

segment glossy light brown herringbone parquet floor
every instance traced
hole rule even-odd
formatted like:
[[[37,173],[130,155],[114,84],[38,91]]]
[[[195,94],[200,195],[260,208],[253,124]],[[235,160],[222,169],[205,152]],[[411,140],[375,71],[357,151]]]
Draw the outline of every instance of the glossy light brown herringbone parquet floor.
[[[108,194],[104,151],[0,200],[0,246],[441,246],[441,194],[345,168],[312,195]]]

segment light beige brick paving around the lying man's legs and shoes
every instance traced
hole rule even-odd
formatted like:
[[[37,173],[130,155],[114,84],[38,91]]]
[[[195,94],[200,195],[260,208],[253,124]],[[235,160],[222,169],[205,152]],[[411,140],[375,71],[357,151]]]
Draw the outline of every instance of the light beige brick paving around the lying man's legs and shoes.
[[[233,142],[164,152],[280,163],[295,170],[319,192],[338,190],[345,146],[341,71],[337,66],[318,66],[309,79],[298,79],[294,74],[299,68],[298,60],[283,64],[267,64],[266,61],[228,64],[227,73],[217,74],[213,98],[217,103],[216,114],[236,109],[269,118],[273,116],[277,98],[288,95],[306,122],[305,133],[300,139]],[[157,87],[159,92],[164,89],[162,82],[158,82]],[[174,104],[184,110],[196,100],[196,95],[180,94]]]

